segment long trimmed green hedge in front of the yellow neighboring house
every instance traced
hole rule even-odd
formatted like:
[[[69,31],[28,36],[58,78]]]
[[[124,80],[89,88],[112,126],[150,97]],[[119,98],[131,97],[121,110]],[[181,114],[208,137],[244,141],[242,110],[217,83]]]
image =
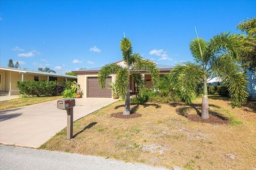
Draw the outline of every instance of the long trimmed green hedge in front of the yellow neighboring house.
[[[18,81],[17,87],[21,95],[53,96],[57,94],[57,81]]]

